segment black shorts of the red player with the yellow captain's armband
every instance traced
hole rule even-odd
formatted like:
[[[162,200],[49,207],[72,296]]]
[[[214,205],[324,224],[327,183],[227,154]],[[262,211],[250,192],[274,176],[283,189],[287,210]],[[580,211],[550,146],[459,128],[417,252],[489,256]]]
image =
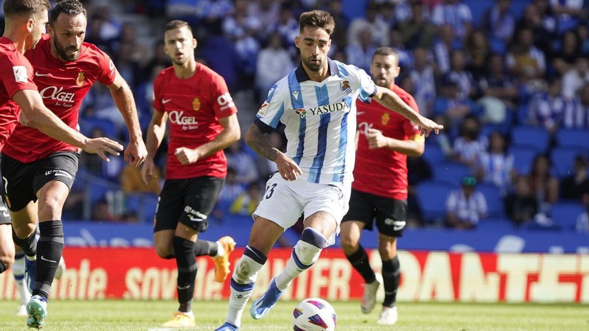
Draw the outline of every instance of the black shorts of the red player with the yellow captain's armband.
[[[343,217],[345,221],[361,221],[364,229],[372,231],[376,218],[379,233],[386,236],[402,237],[406,224],[407,200],[375,196],[374,194],[352,190],[350,209]]]

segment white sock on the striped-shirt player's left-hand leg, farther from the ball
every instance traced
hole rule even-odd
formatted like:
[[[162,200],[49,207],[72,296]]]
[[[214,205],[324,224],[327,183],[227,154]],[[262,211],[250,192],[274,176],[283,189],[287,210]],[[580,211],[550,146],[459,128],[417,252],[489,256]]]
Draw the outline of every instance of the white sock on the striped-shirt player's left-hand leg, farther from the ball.
[[[266,260],[267,257],[260,251],[246,246],[246,250],[237,262],[233,276],[231,276],[231,296],[229,297],[229,313],[227,313],[226,322],[237,327],[241,325],[241,315],[247,300],[252,295],[257,273],[262,269]]]

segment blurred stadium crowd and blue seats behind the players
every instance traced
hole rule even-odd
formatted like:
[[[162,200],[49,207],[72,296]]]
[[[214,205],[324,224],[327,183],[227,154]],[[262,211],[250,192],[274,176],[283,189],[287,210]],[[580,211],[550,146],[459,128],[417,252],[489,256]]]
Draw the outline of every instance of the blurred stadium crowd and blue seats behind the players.
[[[193,26],[198,61],[224,77],[241,126],[248,127],[269,88],[300,61],[294,47],[299,14],[326,9],[336,21],[331,58],[368,71],[373,51],[392,47],[401,67],[398,84],[422,114],[446,127],[426,140],[423,157],[408,159],[412,226],[468,229],[509,220],[589,232],[587,1],[366,1],[355,18],[345,14],[349,1],[82,2],[90,9],[85,40],[110,54],[133,88],[144,131],[153,79],[170,65],[163,41],[153,37],[168,19]],[[95,85],[85,98],[80,130],[128,141],[106,87]],[[270,140],[284,148],[280,133]],[[160,173],[165,150],[156,158]],[[214,212],[219,221],[249,216],[276,170],[243,141],[226,153],[229,173]],[[122,157],[103,163],[84,154],[65,217],[153,220],[144,211],[154,209],[159,190],[158,180],[144,186]],[[574,220],[563,221],[569,214]]]

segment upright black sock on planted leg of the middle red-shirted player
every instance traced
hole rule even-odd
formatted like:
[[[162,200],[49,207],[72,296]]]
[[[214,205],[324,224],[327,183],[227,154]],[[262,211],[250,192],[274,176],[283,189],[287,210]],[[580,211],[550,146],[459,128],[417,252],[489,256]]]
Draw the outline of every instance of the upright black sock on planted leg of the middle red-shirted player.
[[[190,240],[174,236],[174,255],[178,266],[178,302],[180,312],[190,312],[190,304],[194,295],[194,279],[196,279],[196,257],[194,243]]]

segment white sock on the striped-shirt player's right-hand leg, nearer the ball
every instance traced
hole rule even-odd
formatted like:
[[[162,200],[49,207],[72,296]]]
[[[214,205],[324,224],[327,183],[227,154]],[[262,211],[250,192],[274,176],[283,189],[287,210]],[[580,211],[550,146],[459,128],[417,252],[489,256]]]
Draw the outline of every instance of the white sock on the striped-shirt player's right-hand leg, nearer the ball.
[[[307,243],[306,241],[299,240],[294,246],[289,262],[286,263],[286,267],[274,279],[276,287],[278,287],[279,290],[284,291],[290,286],[290,283],[299,276],[299,274],[309,269],[313,263],[319,259],[320,254],[321,249],[319,247]]]

